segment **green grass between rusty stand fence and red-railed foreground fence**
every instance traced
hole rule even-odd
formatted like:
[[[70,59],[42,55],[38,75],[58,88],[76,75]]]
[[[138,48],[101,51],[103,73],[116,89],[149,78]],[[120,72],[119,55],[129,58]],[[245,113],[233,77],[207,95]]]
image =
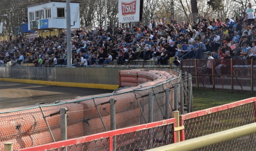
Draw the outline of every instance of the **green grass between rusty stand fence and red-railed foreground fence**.
[[[213,91],[212,89],[193,88],[193,109],[194,111],[204,110],[254,96],[242,92],[232,93],[230,90]]]

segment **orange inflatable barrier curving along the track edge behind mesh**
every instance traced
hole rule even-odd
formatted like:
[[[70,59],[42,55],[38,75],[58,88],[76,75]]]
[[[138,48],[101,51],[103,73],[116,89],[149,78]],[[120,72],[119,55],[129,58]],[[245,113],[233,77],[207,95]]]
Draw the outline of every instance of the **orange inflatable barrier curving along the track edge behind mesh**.
[[[124,70],[119,72],[118,80],[120,88],[112,93],[76,97],[42,106],[2,110],[0,113],[0,150],[4,149],[4,142],[13,142],[15,150],[51,143],[54,140],[60,141],[60,108],[68,110],[68,139],[109,131],[110,99],[116,101],[117,129],[148,122],[149,92],[156,94],[153,120],[154,122],[163,120],[161,113],[161,110],[165,108],[163,92],[166,88],[172,88],[172,83],[180,81],[180,73],[168,69],[166,71]],[[170,94],[170,98],[172,97]],[[130,141],[116,143],[118,146],[126,146]]]

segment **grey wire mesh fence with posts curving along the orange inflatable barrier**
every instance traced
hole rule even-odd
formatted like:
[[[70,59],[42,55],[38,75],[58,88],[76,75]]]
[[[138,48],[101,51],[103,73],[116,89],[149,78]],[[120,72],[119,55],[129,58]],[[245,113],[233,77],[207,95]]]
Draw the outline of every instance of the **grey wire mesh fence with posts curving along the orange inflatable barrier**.
[[[188,104],[189,88],[186,86],[189,85],[189,76],[181,75],[180,72],[170,69],[162,69],[162,71],[172,73],[176,75],[176,78],[150,86],[150,88],[140,88],[140,90],[77,97],[52,104],[32,105],[29,108],[20,107],[12,111],[2,110],[0,112],[0,150],[7,142],[12,142],[13,149],[18,150],[113,129],[157,122],[173,118],[174,111],[180,111],[183,114],[183,105]],[[153,104],[149,103],[150,100],[153,100]],[[115,105],[114,115],[111,110],[113,104]],[[190,105],[192,106],[191,103]],[[66,108],[66,112],[60,112],[60,108]],[[60,120],[63,114],[66,114],[65,122]],[[115,116],[115,123],[110,122],[113,116]],[[66,127],[61,123],[66,123]],[[63,127],[66,133],[63,132]],[[156,135],[164,135],[167,138],[167,133],[168,135],[172,133],[170,129],[173,129],[172,124],[152,127],[149,129],[152,134],[150,137],[146,133],[147,130],[142,129],[140,132],[115,135],[113,141],[116,142],[115,147],[122,148],[121,150],[148,149],[159,146],[151,142],[149,138],[155,138]],[[165,134],[162,134],[163,130],[166,131]],[[130,142],[135,140],[133,139],[135,136],[138,143],[135,146],[129,146]],[[109,148],[108,139],[93,143],[96,145],[101,143],[103,147],[105,146],[104,148]],[[161,137],[156,138],[155,141],[164,145],[166,141],[164,143],[163,140]],[[173,138],[168,137],[168,141],[172,142]],[[82,148],[88,146],[93,148],[95,147],[93,143],[84,144]]]

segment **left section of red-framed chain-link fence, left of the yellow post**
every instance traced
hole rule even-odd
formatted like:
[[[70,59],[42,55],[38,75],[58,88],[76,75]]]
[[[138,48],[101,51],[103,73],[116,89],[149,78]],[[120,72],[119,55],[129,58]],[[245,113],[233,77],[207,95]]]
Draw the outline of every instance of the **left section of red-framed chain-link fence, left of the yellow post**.
[[[43,149],[44,151],[62,151],[67,149],[67,151],[110,151],[116,149],[116,151],[143,151],[174,143],[174,124],[175,119],[172,118],[65,140],[66,145],[56,142],[51,143],[51,147],[45,147],[46,144],[19,150],[32,151]]]

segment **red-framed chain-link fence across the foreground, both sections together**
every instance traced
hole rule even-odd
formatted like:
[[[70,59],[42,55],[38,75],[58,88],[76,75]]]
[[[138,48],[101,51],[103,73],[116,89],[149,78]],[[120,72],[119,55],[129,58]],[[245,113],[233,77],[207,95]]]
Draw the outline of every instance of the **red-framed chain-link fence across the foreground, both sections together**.
[[[179,118],[180,126],[184,126],[180,130],[180,141],[244,126],[256,121],[256,98],[180,115]],[[176,135],[179,131],[174,131],[177,125],[175,121],[172,118],[18,151],[57,151],[65,147],[68,151],[108,151],[114,147],[118,151],[142,151],[177,142]],[[199,150],[255,150],[255,139],[256,135],[250,134]]]

